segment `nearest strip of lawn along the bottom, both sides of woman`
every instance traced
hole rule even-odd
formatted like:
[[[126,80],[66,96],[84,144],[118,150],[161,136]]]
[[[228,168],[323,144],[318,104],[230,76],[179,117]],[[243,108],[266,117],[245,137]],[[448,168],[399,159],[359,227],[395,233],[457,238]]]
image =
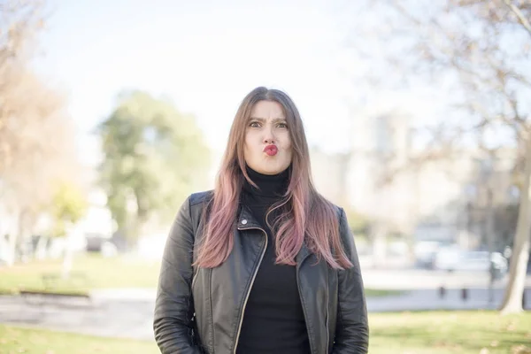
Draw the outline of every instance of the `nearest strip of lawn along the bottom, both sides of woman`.
[[[531,353],[531,312],[506,317],[497,312],[371,313],[369,321],[371,354]],[[19,352],[159,353],[154,342],[0,325],[0,354]]]

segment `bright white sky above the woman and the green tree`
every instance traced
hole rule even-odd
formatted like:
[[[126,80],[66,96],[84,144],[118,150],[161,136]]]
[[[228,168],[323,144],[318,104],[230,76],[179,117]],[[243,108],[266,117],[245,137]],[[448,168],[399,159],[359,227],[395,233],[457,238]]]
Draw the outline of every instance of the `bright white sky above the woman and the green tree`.
[[[339,3],[325,0],[55,0],[35,67],[65,92],[84,162],[94,165],[90,132],[123,89],[166,96],[196,116],[219,155],[243,96],[257,86],[285,90],[308,140],[340,151],[350,141]]]

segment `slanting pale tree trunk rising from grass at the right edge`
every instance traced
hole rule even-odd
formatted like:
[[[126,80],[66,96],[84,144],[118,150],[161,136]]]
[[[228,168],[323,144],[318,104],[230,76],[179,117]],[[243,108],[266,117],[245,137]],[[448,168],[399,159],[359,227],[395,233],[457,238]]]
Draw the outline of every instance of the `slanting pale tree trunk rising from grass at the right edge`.
[[[509,283],[505,289],[504,302],[500,308],[502,314],[522,312],[522,298],[524,296],[527,261],[529,258],[529,232],[531,215],[529,215],[529,178],[531,176],[531,141],[526,141],[526,159],[524,168],[524,185],[520,191],[519,215],[516,235],[512,246]]]

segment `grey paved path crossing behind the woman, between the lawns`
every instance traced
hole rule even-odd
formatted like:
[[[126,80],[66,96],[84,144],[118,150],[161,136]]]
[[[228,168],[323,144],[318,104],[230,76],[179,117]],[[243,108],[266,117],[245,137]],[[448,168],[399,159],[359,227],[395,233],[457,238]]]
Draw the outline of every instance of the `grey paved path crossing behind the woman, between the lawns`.
[[[459,295],[458,290],[449,290],[442,299],[434,289],[412,290],[401,296],[368,298],[367,308],[369,312],[495,309],[502,299],[503,290],[496,289],[494,303],[489,303],[487,289],[471,290],[467,301]],[[531,289],[527,290],[527,304],[531,304]],[[90,302],[63,301],[39,305],[27,304],[19,296],[0,296],[0,322],[89,335],[153,340],[153,306],[153,300],[142,298],[95,298]]]

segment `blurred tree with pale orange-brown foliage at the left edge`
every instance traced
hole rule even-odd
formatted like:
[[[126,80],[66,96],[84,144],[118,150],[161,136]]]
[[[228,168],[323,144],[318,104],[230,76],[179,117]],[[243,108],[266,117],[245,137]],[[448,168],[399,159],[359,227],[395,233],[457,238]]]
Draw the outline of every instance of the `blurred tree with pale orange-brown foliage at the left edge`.
[[[0,200],[9,214],[4,224],[13,224],[9,264],[16,244],[32,233],[49,205],[52,181],[77,170],[65,99],[29,65],[43,9],[39,1],[0,2]]]

